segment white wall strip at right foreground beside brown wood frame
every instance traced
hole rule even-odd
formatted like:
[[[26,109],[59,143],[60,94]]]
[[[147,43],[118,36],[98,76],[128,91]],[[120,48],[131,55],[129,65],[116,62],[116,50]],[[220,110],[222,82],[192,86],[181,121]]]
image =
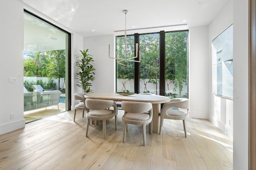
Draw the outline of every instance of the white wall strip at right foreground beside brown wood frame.
[[[248,169],[249,84],[248,14],[249,0],[234,0],[234,170]]]

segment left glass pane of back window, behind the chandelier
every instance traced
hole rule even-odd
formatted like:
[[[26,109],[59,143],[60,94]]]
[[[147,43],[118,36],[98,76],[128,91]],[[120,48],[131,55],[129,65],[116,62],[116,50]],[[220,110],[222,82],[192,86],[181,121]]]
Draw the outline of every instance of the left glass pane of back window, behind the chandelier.
[[[134,57],[134,36],[127,36],[127,58]],[[125,58],[124,37],[116,37],[118,58]],[[120,61],[116,63],[116,92],[134,92],[134,62]]]

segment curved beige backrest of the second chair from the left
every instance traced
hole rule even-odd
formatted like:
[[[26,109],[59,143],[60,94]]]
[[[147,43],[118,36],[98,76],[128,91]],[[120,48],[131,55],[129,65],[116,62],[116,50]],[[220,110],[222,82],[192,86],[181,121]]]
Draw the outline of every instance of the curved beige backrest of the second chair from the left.
[[[116,102],[113,100],[86,99],[85,105],[92,110],[108,109],[114,106],[114,110],[117,111]]]

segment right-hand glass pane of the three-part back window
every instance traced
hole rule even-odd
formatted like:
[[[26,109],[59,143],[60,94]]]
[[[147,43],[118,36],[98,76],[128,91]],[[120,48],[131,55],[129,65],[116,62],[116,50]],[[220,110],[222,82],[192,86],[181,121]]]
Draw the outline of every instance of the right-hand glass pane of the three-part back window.
[[[166,96],[188,98],[188,31],[165,33]]]

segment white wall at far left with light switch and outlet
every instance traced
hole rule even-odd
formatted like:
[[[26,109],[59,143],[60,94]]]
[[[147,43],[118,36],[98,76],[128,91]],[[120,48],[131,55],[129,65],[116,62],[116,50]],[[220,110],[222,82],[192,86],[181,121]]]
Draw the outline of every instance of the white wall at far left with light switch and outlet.
[[[23,117],[23,6],[11,0],[1,2],[1,99],[0,134],[25,126]],[[9,83],[16,77],[16,83]],[[10,119],[14,113],[15,118]]]

